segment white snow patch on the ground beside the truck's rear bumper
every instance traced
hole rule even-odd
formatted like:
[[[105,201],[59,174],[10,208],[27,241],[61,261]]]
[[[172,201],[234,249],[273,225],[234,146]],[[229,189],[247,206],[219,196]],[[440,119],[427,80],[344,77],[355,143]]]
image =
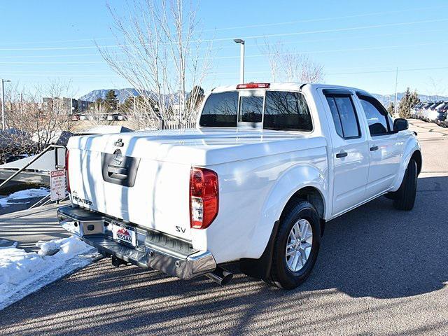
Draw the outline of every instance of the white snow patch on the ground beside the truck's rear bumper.
[[[73,236],[36,245],[38,253],[15,244],[0,247],[0,310],[99,258],[96,249]]]

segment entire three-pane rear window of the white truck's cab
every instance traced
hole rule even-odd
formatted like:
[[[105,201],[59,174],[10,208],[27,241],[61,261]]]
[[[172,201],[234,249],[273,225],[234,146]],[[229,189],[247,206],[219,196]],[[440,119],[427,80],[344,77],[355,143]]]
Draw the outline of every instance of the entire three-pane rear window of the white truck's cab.
[[[303,94],[281,90],[212,93],[204,104],[200,126],[313,130],[311,113]]]

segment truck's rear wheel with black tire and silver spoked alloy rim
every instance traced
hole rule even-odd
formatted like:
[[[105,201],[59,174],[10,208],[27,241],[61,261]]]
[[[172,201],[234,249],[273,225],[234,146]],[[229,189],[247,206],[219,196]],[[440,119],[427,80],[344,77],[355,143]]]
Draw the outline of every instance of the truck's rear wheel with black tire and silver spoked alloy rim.
[[[300,228],[300,230],[298,230],[300,232],[300,243],[297,243],[299,239],[295,240],[296,243],[293,243],[292,241],[294,240],[291,240],[291,237],[293,236],[290,235],[297,232],[297,226],[295,225],[298,225],[298,228]],[[293,232],[292,230],[294,227],[295,231]],[[307,232],[304,232],[304,235],[302,235],[302,229],[307,230]],[[308,238],[302,240],[302,238],[309,237],[309,229],[312,234],[311,239]],[[308,246],[308,244],[310,244],[309,241],[311,241],[311,248],[300,247]],[[294,255],[287,256],[287,254],[293,253],[295,250],[295,248],[291,247],[287,250],[286,244],[288,244],[288,242],[290,243],[290,246],[298,244],[296,248],[300,249],[300,252],[296,251]],[[317,211],[314,209],[313,205],[307,201],[298,201],[288,206],[280,218],[279,230],[274,241],[270,278],[267,282],[283,289],[293,289],[299,286],[308,278],[309,274],[311,274],[311,270],[316,263],[320,243],[320,222]],[[304,254],[306,255],[308,252],[308,256],[304,256]],[[294,260],[291,258],[297,259]],[[302,262],[303,258],[305,258],[304,265]],[[288,263],[290,263],[290,265],[288,265]],[[294,267],[294,265],[296,265],[296,267]]]

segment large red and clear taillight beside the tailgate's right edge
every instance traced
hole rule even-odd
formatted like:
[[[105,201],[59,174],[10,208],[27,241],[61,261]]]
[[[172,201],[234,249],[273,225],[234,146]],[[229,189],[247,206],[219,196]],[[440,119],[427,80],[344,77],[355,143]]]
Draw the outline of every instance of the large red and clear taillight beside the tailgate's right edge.
[[[190,172],[190,227],[205,229],[218,215],[218,175],[205,168]]]

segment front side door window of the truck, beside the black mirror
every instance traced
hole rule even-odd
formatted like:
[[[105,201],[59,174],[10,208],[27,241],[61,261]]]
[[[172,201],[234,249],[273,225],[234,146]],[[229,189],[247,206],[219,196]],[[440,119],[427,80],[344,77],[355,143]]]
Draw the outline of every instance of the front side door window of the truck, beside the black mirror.
[[[369,125],[370,135],[374,137],[391,132],[388,113],[381,103],[373,97],[358,95],[358,98],[363,106],[365,118],[367,119],[367,124]]]

